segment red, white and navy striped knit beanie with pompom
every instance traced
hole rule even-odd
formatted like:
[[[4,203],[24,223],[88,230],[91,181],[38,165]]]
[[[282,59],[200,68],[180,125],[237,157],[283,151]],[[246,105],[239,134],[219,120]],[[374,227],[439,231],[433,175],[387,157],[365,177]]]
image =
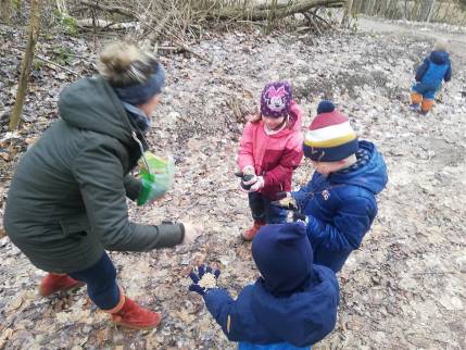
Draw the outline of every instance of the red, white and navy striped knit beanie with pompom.
[[[304,155],[316,162],[341,161],[357,151],[357,136],[348,116],[322,101],[304,138]]]

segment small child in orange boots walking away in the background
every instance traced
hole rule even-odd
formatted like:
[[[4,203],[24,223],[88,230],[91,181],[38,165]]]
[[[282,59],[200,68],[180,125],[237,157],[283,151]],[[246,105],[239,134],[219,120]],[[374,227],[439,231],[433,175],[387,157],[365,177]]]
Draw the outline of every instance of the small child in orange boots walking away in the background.
[[[411,93],[411,108],[420,113],[427,114],[433,105],[436,92],[452,78],[452,64],[446,52],[446,42],[438,40],[433,46],[433,51],[424,59],[424,63],[417,68],[416,85]]]

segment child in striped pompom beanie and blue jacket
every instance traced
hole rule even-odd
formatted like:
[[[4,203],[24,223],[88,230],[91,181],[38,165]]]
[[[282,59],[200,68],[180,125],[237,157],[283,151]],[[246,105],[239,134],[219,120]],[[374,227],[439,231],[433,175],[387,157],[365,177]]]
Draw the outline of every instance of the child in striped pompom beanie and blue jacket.
[[[348,117],[330,101],[319,103],[303,150],[315,168],[311,182],[275,203],[301,210],[314,263],[337,273],[373,224],[387,166],[375,145],[358,141]]]

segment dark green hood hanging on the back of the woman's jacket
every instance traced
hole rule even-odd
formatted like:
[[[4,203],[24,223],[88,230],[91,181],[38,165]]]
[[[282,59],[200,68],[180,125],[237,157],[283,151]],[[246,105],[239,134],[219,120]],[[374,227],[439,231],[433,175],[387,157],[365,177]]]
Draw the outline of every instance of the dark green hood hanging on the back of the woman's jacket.
[[[133,142],[134,130],[122,101],[101,76],[84,78],[60,93],[60,116],[76,128]]]

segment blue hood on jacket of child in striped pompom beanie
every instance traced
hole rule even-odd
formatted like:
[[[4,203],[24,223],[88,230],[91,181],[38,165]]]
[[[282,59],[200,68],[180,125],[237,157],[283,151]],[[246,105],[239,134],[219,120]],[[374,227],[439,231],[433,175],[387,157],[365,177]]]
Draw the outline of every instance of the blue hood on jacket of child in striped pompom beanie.
[[[336,184],[361,186],[377,195],[388,183],[387,165],[374,143],[360,141],[358,147],[369,152],[369,162],[350,173],[332,173],[329,176],[329,180]]]

